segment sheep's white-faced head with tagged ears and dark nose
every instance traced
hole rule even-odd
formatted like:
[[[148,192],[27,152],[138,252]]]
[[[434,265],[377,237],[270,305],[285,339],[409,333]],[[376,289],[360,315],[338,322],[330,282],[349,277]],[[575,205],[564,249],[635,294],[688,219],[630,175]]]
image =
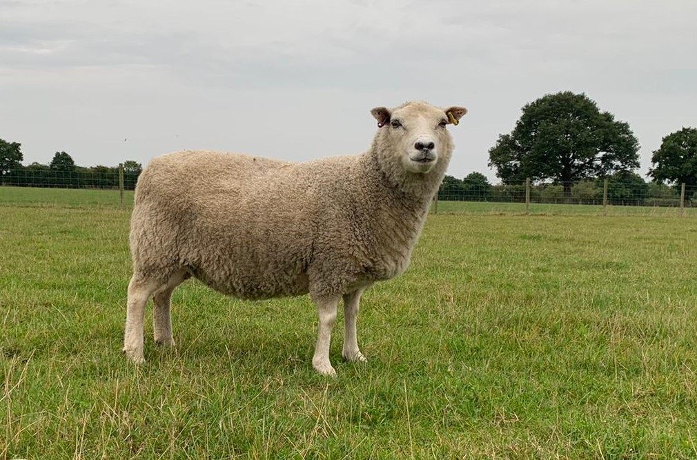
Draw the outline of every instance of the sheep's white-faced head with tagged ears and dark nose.
[[[464,107],[442,109],[426,102],[407,102],[395,109],[376,107],[370,111],[378,128],[394,147],[393,153],[406,171],[427,173],[443,156],[450,160],[452,139],[448,124],[457,125],[467,113]]]

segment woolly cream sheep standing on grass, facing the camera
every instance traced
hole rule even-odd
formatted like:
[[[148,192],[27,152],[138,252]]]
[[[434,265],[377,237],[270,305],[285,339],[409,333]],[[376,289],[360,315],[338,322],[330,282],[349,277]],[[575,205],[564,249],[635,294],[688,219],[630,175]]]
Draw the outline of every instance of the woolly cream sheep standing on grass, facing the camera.
[[[139,177],[130,227],[133,275],[123,351],[144,362],[144,311],[153,298],[155,342],[174,345],[170,298],[196,277],[241,299],[309,293],[319,314],[312,366],[335,375],[332,328],[344,301],[349,361],[358,348],[360,296],[404,272],[452,155],[446,125],[464,107],[414,101],[376,107],[365,153],[286,162],[181,151],[154,158]]]

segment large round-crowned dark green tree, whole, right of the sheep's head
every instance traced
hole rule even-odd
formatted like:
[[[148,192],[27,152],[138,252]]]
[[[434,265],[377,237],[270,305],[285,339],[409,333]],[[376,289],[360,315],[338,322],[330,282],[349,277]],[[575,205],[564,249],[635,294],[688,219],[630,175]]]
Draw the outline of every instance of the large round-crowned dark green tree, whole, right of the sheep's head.
[[[549,181],[564,186],[639,166],[638,141],[622,121],[600,112],[587,95],[547,94],[523,107],[514,130],[489,150],[489,166],[505,184]]]

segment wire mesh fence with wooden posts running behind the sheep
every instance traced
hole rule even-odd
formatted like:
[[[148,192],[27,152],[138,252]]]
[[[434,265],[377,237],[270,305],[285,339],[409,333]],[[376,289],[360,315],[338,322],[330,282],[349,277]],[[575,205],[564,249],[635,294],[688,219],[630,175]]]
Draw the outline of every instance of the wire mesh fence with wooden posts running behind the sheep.
[[[124,170],[123,167],[71,170],[25,167],[0,175],[0,205],[129,206],[139,174],[139,170]],[[540,208],[543,205],[546,207]],[[574,205],[586,208],[572,208]],[[550,209],[600,212],[598,207],[606,209],[608,206],[632,208],[631,213],[655,214],[660,210],[670,212],[673,208],[687,215],[697,215],[697,186],[602,179],[581,181],[568,187],[445,181],[431,209],[433,212],[463,213],[547,212]]]

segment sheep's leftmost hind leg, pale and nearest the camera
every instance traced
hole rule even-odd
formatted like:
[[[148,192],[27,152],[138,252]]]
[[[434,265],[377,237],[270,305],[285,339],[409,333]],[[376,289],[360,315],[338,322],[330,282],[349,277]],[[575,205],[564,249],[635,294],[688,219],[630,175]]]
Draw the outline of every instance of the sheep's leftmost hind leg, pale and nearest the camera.
[[[125,335],[123,337],[123,352],[128,358],[140,364],[143,358],[143,321],[145,305],[158,283],[144,280],[134,274],[128,284],[128,309],[126,310]]]

